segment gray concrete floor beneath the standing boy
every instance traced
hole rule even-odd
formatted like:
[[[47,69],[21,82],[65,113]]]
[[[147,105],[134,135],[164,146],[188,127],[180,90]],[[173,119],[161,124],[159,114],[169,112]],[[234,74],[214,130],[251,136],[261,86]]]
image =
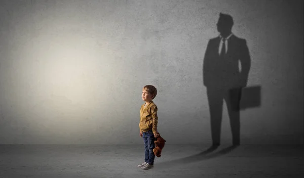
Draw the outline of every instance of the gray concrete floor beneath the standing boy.
[[[0,177],[303,177],[303,145],[166,145],[141,170],[143,145],[0,145]]]

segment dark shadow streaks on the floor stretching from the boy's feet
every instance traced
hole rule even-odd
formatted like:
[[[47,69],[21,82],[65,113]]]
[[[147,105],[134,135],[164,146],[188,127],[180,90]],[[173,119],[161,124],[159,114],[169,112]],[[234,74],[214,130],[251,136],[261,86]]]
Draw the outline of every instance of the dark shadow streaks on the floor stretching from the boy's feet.
[[[209,154],[218,148],[217,146],[211,146],[201,153],[198,153],[198,154],[195,154],[192,156],[188,156],[188,157],[184,157],[184,158],[180,158],[180,159],[171,160],[171,161],[160,162],[157,164],[157,166],[158,166],[158,169],[163,169],[163,168],[170,168],[170,167],[180,166],[180,165],[189,164],[189,163],[193,163],[193,162],[198,162],[198,161],[202,161],[202,160],[208,160],[211,158],[215,158],[215,157],[227,154],[237,147],[238,147],[237,145],[233,145],[233,146],[223,148],[216,153]]]

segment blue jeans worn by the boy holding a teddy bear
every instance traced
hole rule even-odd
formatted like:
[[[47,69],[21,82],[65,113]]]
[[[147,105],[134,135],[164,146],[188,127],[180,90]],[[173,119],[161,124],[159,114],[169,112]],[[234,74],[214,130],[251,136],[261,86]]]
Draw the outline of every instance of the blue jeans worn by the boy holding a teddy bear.
[[[155,137],[152,130],[142,132],[142,138],[144,143],[144,161],[153,165],[155,155],[153,149],[155,148]]]

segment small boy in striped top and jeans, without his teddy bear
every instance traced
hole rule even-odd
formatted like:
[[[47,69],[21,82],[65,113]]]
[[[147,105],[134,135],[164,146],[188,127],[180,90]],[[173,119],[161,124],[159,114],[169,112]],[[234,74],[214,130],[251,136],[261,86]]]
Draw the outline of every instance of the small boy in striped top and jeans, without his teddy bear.
[[[154,167],[153,149],[155,148],[155,138],[158,137],[157,131],[157,106],[152,101],[157,95],[157,89],[153,85],[145,85],[142,89],[142,100],[145,101],[140,107],[139,136],[144,143],[144,162],[138,167],[146,170]]]

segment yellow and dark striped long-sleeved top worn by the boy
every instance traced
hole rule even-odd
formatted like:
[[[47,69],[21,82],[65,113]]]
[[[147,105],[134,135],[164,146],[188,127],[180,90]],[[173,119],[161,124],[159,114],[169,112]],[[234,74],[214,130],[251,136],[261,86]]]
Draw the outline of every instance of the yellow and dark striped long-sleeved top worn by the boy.
[[[139,120],[139,130],[148,131],[152,129],[153,133],[157,132],[157,106],[151,101],[148,105],[144,107],[145,104],[142,104],[140,107],[140,120]]]

